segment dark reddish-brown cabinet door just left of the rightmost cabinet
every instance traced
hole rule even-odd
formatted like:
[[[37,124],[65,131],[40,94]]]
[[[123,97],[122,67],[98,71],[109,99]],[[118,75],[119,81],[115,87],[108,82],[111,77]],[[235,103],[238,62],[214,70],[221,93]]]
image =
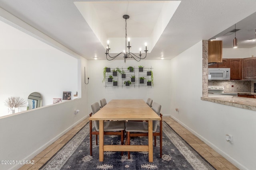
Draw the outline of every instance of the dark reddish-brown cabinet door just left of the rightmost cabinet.
[[[242,59],[229,59],[230,80],[242,80]]]

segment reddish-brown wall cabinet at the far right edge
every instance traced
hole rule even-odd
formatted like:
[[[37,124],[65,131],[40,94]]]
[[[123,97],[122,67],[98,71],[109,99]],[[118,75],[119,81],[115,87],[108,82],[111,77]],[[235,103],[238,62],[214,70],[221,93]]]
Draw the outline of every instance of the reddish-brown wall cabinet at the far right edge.
[[[256,79],[256,57],[243,59],[243,76],[245,80]]]

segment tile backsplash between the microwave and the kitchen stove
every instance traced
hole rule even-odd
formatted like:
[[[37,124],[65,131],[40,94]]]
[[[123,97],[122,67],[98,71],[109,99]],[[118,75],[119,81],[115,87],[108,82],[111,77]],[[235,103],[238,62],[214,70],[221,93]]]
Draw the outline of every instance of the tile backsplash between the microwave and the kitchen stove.
[[[224,92],[254,92],[254,83],[256,81],[208,80],[208,86],[224,86]]]

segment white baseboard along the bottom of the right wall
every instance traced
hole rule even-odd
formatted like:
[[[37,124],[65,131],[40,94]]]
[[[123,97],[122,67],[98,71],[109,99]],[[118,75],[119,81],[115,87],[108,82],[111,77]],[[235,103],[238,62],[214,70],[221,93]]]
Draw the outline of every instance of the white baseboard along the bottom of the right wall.
[[[172,117],[172,115],[168,115],[170,117]],[[216,152],[218,152],[221,156],[223,156],[224,158],[226,158],[229,162],[231,162],[233,165],[235,165],[237,168],[239,168],[240,170],[249,170],[248,168],[246,168],[244,165],[240,164],[238,161],[236,161],[234,158],[230,157],[228,154],[226,154],[226,152],[223,152],[222,150],[220,150],[218,147],[216,147],[215,145],[213,145],[210,141],[206,140],[204,137],[202,137],[201,135],[199,135],[198,133],[196,133],[195,131],[193,131],[192,129],[190,129],[190,127],[186,126],[184,123],[180,122],[178,119],[176,119],[175,117],[172,117],[172,119],[174,119],[175,121],[177,121],[178,123],[180,123],[180,125],[182,125],[183,127],[185,127],[186,129],[188,129],[188,131],[190,131],[191,133],[193,133],[194,135],[196,135],[196,137],[198,137],[200,140],[204,141],[204,143],[206,143],[209,147],[211,147],[212,149],[214,149]]]

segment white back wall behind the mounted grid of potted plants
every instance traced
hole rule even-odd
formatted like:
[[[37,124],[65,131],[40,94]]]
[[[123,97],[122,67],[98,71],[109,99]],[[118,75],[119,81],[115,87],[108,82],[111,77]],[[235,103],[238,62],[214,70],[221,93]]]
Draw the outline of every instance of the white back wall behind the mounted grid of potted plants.
[[[136,62],[134,59],[128,59],[126,63],[124,60],[115,61],[88,61],[88,76],[90,77],[88,85],[88,112],[91,112],[90,105],[94,102],[100,102],[100,99],[106,98],[107,102],[112,99],[143,99],[146,101],[148,98],[152,98],[153,102],[157,102],[162,105],[161,113],[169,115],[170,109],[168,100],[170,100],[170,61],[156,60],[156,61],[140,61]],[[110,68],[125,68],[127,70],[128,66],[135,66],[138,68],[139,65],[145,68],[150,68],[152,66],[152,71],[154,75],[154,87],[144,86],[135,87],[128,86],[123,87],[121,84],[121,77],[119,77],[119,85],[121,87],[104,87],[105,82],[103,80],[103,68],[108,66]],[[138,69],[136,69],[138,72]],[[136,77],[138,81],[138,76]]]

